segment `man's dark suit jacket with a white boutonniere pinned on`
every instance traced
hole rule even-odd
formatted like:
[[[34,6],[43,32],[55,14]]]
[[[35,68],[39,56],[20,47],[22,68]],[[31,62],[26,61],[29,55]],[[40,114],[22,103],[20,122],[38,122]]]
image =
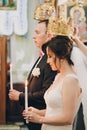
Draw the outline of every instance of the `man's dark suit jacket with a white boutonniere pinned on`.
[[[37,62],[35,64],[37,64]],[[40,68],[39,77],[34,77],[31,73],[32,71],[30,72],[30,75],[28,77],[28,81],[29,81],[28,101],[29,101],[29,106],[33,106],[38,109],[44,109],[46,108],[46,104],[43,98],[44,92],[52,84],[57,72],[52,71],[49,64],[47,64],[46,54],[42,57],[37,67]],[[21,93],[19,96],[19,102],[20,104],[24,105],[23,93]],[[41,130],[41,125],[30,122],[28,124],[28,128],[29,130]]]

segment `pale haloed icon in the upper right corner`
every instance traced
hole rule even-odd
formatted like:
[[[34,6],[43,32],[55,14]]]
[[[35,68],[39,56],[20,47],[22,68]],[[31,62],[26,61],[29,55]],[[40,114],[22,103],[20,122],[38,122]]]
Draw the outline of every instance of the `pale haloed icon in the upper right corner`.
[[[78,27],[79,37],[87,37],[87,19],[84,7],[72,7],[70,9],[70,16],[74,19],[74,25]]]

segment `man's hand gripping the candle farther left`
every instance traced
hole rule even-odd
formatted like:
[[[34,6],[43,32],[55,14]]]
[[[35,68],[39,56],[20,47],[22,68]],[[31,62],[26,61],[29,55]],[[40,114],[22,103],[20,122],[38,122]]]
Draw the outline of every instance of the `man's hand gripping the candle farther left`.
[[[9,94],[8,94],[10,100],[18,101],[20,93],[21,92],[15,90],[15,89],[12,89],[12,90],[10,89]]]

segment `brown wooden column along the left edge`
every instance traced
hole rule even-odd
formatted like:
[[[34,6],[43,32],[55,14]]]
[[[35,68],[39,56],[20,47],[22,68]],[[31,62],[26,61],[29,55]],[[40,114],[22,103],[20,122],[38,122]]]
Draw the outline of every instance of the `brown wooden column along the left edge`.
[[[7,39],[0,37],[0,124],[6,123]]]

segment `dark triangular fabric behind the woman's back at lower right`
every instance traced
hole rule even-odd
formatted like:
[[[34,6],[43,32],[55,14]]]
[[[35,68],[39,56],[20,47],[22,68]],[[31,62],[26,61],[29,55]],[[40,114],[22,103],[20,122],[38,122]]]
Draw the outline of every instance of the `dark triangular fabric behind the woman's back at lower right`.
[[[80,105],[79,111],[77,113],[77,117],[74,122],[74,130],[86,130],[84,124],[84,116],[83,116],[83,106],[82,103]]]

